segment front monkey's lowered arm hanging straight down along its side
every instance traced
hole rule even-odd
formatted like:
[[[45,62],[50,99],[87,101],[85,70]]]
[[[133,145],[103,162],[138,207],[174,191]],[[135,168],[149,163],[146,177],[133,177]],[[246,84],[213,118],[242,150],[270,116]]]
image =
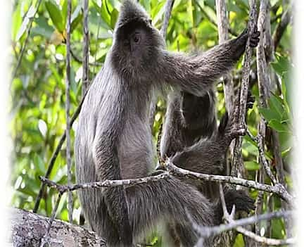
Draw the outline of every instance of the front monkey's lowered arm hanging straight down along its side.
[[[118,106],[118,111],[123,106]],[[94,139],[94,160],[96,174],[99,180],[122,179],[120,161],[118,158],[118,137],[121,133],[122,112],[112,112],[106,122],[97,122],[96,137]],[[103,117],[104,119],[104,117]],[[129,222],[127,198],[123,186],[104,189],[108,213],[118,232],[122,243],[132,246],[132,228]]]

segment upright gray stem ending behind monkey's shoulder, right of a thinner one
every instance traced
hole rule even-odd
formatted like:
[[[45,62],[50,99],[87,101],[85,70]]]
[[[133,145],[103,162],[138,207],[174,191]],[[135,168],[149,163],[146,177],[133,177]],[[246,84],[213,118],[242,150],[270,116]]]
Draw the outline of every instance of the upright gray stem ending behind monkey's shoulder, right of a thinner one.
[[[83,1],[83,63],[82,63],[82,96],[89,88],[89,1]]]

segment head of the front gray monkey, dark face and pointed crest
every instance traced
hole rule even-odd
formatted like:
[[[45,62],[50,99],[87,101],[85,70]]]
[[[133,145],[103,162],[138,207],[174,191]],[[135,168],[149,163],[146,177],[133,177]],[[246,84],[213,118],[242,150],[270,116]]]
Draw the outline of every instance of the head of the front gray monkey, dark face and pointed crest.
[[[159,49],[164,46],[163,37],[151,24],[144,8],[136,1],[125,0],[115,25],[110,53],[115,70],[127,77],[144,76],[146,71],[151,71],[149,68],[155,65]]]

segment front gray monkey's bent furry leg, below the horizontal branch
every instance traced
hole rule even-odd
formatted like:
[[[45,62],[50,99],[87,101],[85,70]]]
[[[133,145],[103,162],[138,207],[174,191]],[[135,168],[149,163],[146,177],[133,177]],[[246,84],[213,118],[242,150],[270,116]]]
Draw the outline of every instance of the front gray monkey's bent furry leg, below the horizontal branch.
[[[129,220],[134,234],[145,235],[163,220],[177,225],[177,235],[183,246],[194,246],[198,236],[193,222],[213,225],[215,211],[193,186],[175,177],[137,184],[127,188]]]

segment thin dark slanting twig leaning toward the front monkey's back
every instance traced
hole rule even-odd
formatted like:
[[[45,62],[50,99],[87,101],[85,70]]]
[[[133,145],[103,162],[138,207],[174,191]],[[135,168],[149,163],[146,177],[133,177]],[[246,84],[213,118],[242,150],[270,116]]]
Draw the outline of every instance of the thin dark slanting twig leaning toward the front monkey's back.
[[[84,102],[84,99],[85,99],[85,96],[82,97],[82,101],[80,102],[80,105],[77,107],[77,109],[75,110],[75,113],[72,115],[72,118],[70,119],[70,127],[72,127],[73,123],[75,122],[76,118],[78,117],[80,110],[82,108],[82,103]],[[63,132],[63,135],[61,136],[61,139],[59,140],[58,146],[56,146],[55,151],[53,151],[51,159],[49,160],[46,174],[44,175],[44,177],[46,177],[46,178],[49,178],[49,176],[51,175],[51,171],[53,170],[53,165],[55,164],[56,158],[57,158],[59,152],[61,151],[63,142],[65,141],[65,137],[66,137],[65,133],[66,133],[66,130],[65,130],[65,132]],[[40,186],[39,193],[36,198],[35,204],[34,204],[33,213],[37,213],[40,201],[42,199],[42,195],[44,193],[44,189],[45,189],[45,184],[42,183],[42,185]]]

